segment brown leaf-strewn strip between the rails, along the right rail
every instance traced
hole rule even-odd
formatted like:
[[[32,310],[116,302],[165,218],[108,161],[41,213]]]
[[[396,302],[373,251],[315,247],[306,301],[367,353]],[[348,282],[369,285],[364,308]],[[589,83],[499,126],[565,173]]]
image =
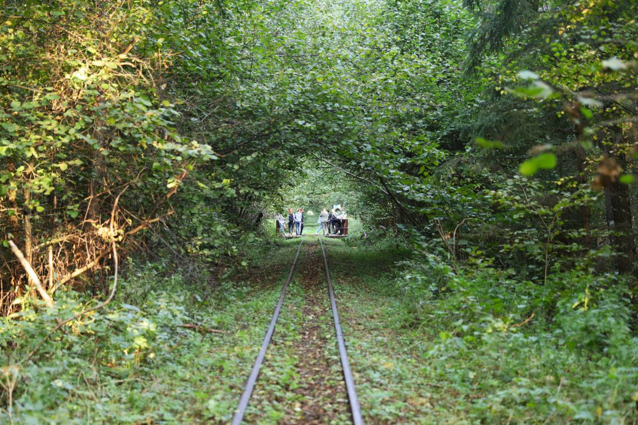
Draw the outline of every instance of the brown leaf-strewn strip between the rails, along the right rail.
[[[293,343],[298,354],[295,365],[300,386],[295,393],[300,399],[298,423],[324,424],[348,417],[346,389],[341,375],[336,339],[330,316],[321,250],[316,241],[306,245],[304,260],[299,265],[298,284],[304,291],[302,324]]]

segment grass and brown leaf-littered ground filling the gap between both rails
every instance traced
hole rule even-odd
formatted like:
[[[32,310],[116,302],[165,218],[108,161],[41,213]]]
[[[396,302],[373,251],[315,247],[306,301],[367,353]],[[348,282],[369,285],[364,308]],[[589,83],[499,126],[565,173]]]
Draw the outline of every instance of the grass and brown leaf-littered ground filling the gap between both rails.
[[[348,423],[318,241],[302,248],[246,419],[260,423]]]

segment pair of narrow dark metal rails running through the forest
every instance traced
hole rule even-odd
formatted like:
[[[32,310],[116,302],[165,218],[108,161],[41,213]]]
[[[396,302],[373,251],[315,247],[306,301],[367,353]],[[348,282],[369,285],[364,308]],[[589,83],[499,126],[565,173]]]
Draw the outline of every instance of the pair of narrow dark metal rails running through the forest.
[[[301,239],[299,242],[299,246],[297,247],[297,253],[295,254],[295,258],[292,262],[292,266],[290,267],[290,272],[288,272],[288,278],[286,278],[283,287],[281,288],[281,294],[279,295],[279,301],[277,302],[277,306],[275,307],[275,311],[271,318],[271,323],[268,326],[266,334],[262,341],[262,347],[259,350],[259,354],[255,359],[255,363],[253,364],[253,369],[246,381],[246,385],[244,386],[244,392],[242,392],[241,398],[239,399],[239,405],[235,410],[235,414],[233,416],[232,425],[241,424],[244,419],[244,414],[246,414],[246,408],[248,408],[248,403],[250,401],[251,395],[253,394],[253,389],[255,389],[255,384],[257,382],[257,378],[259,376],[259,370],[262,367],[263,359],[266,355],[266,351],[268,350],[268,346],[271,343],[272,334],[275,330],[275,325],[277,324],[277,319],[279,318],[279,312],[281,311],[281,306],[283,304],[283,300],[286,297],[286,289],[290,284],[290,280],[292,280],[292,275],[295,272],[295,266],[297,265],[297,260],[299,259],[299,253],[301,251],[301,246],[304,243],[304,239]],[[346,353],[346,344],[343,339],[343,332],[341,331],[341,324],[339,323],[339,313],[337,311],[337,303],[334,299],[334,288],[332,288],[332,281],[330,280],[330,270],[328,268],[328,260],[325,255],[325,248],[323,248],[322,238],[319,238],[319,244],[321,246],[322,257],[323,257],[323,265],[325,267],[325,278],[328,288],[328,294],[330,297],[330,306],[332,306],[332,320],[334,322],[334,331],[337,336],[337,344],[339,347],[339,355],[341,357],[341,368],[343,369],[343,380],[345,382],[346,391],[348,393],[348,401],[350,403],[350,412],[352,414],[352,423],[355,425],[363,424],[361,419],[361,410],[359,406],[359,398],[357,397],[357,389],[355,388],[354,379],[352,377],[352,371],[350,370],[350,361],[348,361],[348,354]]]

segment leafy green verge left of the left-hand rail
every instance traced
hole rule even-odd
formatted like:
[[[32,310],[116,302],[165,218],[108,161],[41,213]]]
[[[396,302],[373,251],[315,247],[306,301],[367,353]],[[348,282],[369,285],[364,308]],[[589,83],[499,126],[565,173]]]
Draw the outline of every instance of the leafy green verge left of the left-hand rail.
[[[296,247],[297,241],[283,241],[277,255],[264,252],[256,258],[272,282],[228,284],[207,299],[204,290],[179,274],[160,278],[149,265],[131,267],[108,309],[71,322],[33,362],[5,365],[5,386],[7,378],[15,376],[17,382],[11,406],[3,391],[0,422],[228,422]],[[144,302],[131,299],[137,288],[148,286],[156,289]],[[24,343],[12,346],[8,363],[24,355],[52,327],[54,317],[68,317],[85,302],[79,294],[59,294],[56,311],[25,309],[20,317],[3,318],[3,347]]]

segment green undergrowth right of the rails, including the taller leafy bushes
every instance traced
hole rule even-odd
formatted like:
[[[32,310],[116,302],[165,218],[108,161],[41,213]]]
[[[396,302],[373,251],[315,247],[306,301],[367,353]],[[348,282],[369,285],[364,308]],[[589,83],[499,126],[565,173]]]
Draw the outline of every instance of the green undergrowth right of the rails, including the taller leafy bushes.
[[[569,271],[541,286],[433,254],[388,267],[391,245],[330,248],[369,420],[637,421],[626,281]]]

